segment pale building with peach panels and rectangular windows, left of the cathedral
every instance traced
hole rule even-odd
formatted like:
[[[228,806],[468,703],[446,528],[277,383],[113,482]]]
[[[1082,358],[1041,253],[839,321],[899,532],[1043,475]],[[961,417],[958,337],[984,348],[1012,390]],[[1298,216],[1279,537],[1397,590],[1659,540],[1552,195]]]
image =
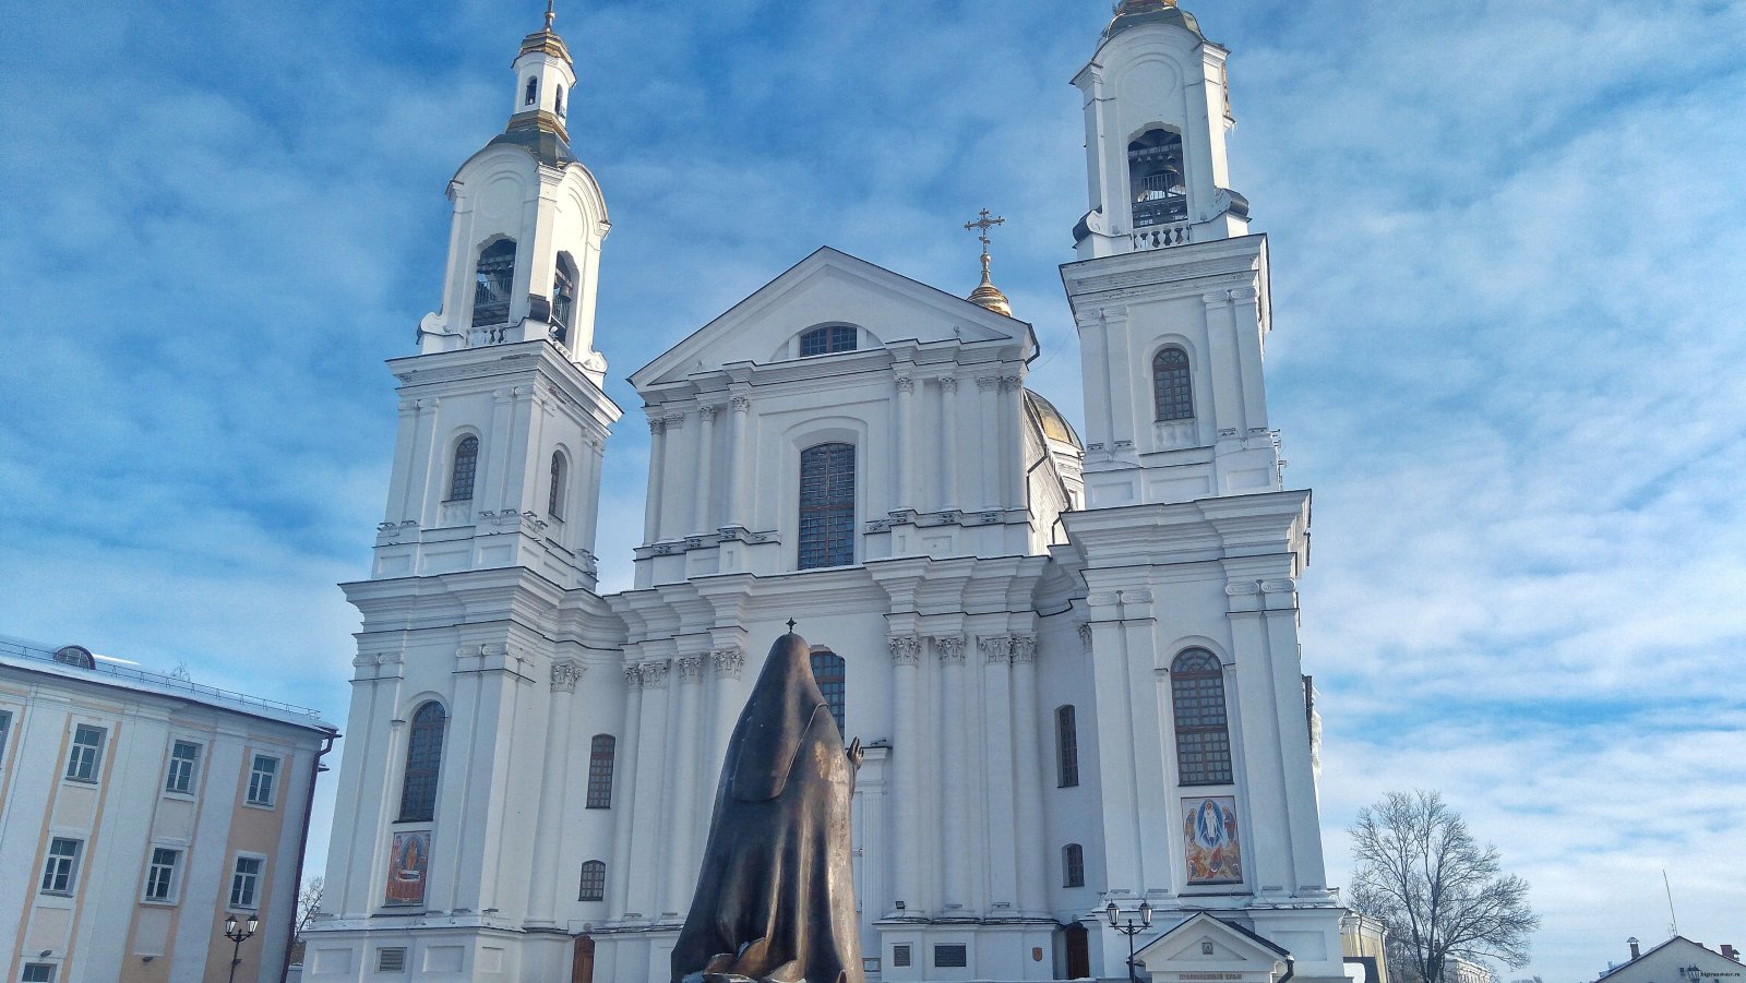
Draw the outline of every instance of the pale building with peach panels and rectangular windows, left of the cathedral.
[[[278,981],[321,754],[316,711],[0,639],[7,981]],[[227,915],[260,920],[237,952]]]

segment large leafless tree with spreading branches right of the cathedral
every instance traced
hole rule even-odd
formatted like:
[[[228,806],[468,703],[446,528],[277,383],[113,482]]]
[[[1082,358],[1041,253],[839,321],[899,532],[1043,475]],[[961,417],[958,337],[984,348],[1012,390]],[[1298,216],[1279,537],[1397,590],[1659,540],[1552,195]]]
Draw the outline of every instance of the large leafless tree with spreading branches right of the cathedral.
[[[1498,873],[1496,847],[1479,845],[1439,793],[1390,793],[1358,810],[1351,856],[1350,904],[1388,925],[1404,976],[1444,983],[1449,957],[1528,964],[1540,927],[1528,882]]]

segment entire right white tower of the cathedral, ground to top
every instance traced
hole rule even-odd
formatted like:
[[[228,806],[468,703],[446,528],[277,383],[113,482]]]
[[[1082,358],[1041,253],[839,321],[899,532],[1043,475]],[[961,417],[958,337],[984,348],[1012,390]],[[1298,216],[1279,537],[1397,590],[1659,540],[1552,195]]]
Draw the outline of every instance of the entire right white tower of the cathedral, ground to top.
[[[1231,189],[1226,56],[1177,0],[1123,0],[1074,77],[1090,210],[1062,279],[1086,508],[1062,524],[1096,704],[1090,849],[1110,906],[1156,911],[1142,939],[1154,978],[1206,969],[1194,953],[1217,945],[1196,918],[1210,913],[1290,952],[1275,983],[1337,981],[1297,643],[1310,492],[1285,489],[1268,421],[1268,241]],[[1213,852],[1231,863],[1213,870]],[[1091,931],[1116,976],[1126,946]]]

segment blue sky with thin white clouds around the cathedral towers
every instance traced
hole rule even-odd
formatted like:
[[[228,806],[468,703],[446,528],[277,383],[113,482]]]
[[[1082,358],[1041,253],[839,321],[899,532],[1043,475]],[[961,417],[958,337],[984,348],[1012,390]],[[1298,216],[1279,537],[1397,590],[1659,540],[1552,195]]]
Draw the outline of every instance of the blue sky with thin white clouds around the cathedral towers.
[[[1439,787],[1535,887],[1528,971],[1746,943],[1746,5],[1205,0],[1315,489],[1329,875]],[[342,721],[443,185],[531,0],[5,3],[0,632]],[[613,217],[608,389],[819,244],[995,279],[1079,419],[1055,267],[1098,0],[560,7]],[[641,431],[641,433],[639,433]],[[629,583],[648,435],[608,449]],[[325,817],[316,850],[325,849]]]

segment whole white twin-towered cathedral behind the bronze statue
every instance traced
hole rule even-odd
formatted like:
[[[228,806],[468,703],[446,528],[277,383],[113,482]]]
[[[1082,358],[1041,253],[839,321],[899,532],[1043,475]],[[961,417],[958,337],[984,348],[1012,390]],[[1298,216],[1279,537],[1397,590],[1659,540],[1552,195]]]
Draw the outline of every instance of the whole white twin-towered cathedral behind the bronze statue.
[[[601,187],[522,40],[449,183],[306,978],[669,980],[716,773],[796,616],[845,735],[868,980],[1344,980],[1299,663],[1310,492],[1268,419],[1268,243],[1226,49],[1126,0],[1074,79],[1084,440],[1030,325],[821,248],[630,375],[636,585],[601,595]],[[1114,908],[1114,911],[1109,911]]]

